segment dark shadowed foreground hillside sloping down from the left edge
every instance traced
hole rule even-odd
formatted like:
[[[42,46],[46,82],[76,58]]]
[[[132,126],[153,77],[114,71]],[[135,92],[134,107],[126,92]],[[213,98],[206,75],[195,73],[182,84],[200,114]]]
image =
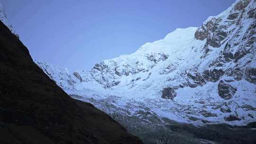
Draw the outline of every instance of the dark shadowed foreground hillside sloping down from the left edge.
[[[142,144],[90,103],[70,98],[0,22],[1,144]]]

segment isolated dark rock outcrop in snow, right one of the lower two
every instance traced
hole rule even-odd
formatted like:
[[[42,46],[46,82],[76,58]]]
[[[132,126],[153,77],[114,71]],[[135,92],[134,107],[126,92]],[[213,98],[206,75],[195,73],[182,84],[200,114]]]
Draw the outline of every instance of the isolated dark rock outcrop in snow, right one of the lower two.
[[[237,89],[225,83],[224,81],[219,81],[218,84],[218,93],[222,99],[232,99],[235,95]]]

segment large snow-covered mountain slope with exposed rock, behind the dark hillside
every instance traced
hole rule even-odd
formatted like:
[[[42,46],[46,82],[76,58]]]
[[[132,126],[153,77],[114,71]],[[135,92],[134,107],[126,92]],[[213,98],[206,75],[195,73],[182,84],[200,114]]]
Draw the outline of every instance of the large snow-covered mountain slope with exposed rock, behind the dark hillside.
[[[256,1],[237,0],[199,28],[177,28],[90,71],[35,63],[73,98],[143,125],[246,125],[256,121]]]

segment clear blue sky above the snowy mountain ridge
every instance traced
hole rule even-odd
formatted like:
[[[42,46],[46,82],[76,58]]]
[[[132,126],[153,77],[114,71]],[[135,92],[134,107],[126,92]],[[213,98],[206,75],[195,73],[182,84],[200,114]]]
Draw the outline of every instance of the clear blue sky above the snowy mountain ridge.
[[[0,0],[36,60],[88,70],[176,28],[200,27],[235,0]]]

